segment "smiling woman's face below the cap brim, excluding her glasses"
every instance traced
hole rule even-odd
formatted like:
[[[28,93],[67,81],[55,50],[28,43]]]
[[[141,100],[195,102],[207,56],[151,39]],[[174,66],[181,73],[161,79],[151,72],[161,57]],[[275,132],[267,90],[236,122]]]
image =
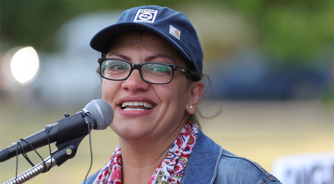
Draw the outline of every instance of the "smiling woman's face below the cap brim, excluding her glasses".
[[[121,34],[112,42],[106,58],[134,64],[169,63],[186,68],[182,56],[168,41],[148,32]],[[147,83],[138,69],[123,81],[102,79],[102,98],[114,109],[111,128],[123,139],[161,136],[168,139],[178,134],[189,114],[194,113],[189,108],[193,83],[178,70],[168,84]],[[123,110],[122,104],[136,110]]]

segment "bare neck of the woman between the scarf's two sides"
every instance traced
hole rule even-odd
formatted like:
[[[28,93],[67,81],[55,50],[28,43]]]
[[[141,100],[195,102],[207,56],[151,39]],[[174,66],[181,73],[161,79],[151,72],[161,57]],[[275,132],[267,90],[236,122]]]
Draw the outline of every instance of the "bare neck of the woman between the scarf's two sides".
[[[142,137],[141,139],[122,139],[122,183],[147,184],[161,160],[170,150],[172,144],[187,122],[182,121],[176,131],[165,137]]]

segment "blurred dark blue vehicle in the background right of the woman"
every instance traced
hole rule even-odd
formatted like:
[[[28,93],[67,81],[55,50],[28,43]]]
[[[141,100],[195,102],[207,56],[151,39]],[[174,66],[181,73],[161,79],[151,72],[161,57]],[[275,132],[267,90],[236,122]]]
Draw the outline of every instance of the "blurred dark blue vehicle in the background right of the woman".
[[[212,62],[207,72],[213,86],[211,96],[224,100],[317,99],[333,82],[330,63],[284,65],[254,50]]]

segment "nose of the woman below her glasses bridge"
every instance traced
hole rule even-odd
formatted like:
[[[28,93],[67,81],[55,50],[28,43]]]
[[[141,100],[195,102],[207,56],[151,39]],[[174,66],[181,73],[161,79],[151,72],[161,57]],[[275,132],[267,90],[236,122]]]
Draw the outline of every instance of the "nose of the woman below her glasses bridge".
[[[121,87],[124,90],[137,92],[148,90],[150,84],[142,79],[138,69],[134,69],[130,76],[122,82]]]

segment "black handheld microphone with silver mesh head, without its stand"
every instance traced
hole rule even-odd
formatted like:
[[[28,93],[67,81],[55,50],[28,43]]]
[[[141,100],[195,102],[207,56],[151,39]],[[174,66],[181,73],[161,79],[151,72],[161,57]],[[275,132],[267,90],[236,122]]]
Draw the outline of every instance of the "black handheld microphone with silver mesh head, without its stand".
[[[89,133],[87,124],[90,125],[90,129],[102,130],[111,124],[113,118],[114,111],[108,102],[100,99],[92,100],[78,113],[72,116],[65,113],[65,118],[58,120],[53,125],[47,125],[45,129],[25,137],[24,140],[35,149],[54,142],[56,145],[61,145],[87,135]],[[0,162],[16,156],[17,151],[18,154],[32,151],[33,148],[26,142],[20,140],[21,147],[13,143],[12,146],[1,150]]]

